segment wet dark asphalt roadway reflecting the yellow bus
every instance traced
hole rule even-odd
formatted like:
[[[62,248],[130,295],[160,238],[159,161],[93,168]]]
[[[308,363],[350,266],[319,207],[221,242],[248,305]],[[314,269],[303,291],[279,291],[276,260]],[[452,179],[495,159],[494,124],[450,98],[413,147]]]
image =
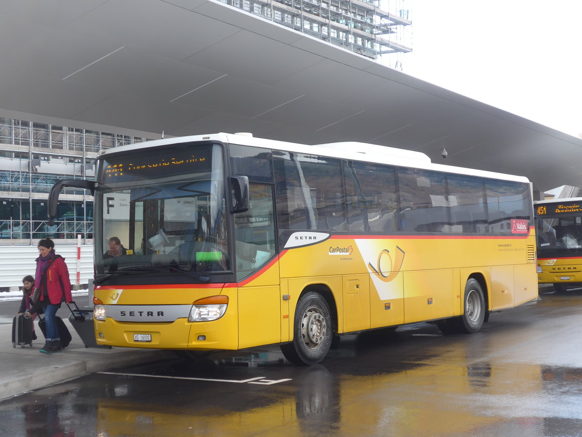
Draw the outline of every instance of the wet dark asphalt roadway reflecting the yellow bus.
[[[0,420],[10,436],[580,436],[581,323],[580,295],[542,295],[476,334],[345,336],[317,366],[271,347],[88,375],[0,403]],[[258,377],[289,380],[236,382]]]

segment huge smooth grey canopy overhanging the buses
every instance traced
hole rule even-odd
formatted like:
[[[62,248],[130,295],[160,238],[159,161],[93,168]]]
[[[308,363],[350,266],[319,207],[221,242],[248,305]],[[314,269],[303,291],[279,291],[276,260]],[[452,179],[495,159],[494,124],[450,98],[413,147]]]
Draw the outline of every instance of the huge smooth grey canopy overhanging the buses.
[[[582,186],[582,140],[212,0],[4,0],[0,38],[0,117],[360,141]]]

